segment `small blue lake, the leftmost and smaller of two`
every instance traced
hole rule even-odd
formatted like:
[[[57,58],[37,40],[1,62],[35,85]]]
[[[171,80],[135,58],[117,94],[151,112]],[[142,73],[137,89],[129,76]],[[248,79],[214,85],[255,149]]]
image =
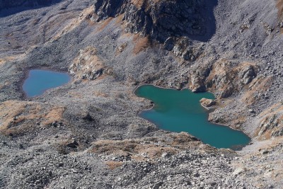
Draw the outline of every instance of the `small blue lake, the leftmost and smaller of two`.
[[[67,84],[71,77],[66,73],[33,69],[23,83],[23,91],[28,97],[39,96],[47,89]]]

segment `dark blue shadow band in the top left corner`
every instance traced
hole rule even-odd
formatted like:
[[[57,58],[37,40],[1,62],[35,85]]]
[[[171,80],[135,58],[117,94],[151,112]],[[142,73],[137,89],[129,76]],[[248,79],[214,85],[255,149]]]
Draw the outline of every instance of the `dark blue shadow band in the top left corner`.
[[[0,18],[21,11],[57,4],[62,0],[0,0]]]

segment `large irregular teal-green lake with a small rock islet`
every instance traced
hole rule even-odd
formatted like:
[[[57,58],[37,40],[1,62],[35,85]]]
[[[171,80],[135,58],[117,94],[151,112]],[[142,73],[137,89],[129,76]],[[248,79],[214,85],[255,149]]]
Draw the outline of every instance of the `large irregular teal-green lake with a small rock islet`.
[[[188,132],[202,142],[216,148],[241,149],[250,142],[248,135],[207,120],[209,110],[200,105],[200,99],[214,99],[212,93],[192,93],[152,85],[139,86],[137,96],[154,102],[154,108],[140,113],[141,118],[158,128],[172,132]]]

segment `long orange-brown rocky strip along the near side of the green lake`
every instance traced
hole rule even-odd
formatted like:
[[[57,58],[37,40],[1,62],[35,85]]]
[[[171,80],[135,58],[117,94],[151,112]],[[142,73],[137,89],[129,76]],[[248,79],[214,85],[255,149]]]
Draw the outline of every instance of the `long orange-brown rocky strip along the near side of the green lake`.
[[[93,142],[90,152],[103,156],[123,156],[136,161],[158,159],[161,156],[173,155],[185,149],[213,151],[212,147],[202,143],[190,134],[166,134],[166,139],[147,137],[145,139],[99,140]]]

